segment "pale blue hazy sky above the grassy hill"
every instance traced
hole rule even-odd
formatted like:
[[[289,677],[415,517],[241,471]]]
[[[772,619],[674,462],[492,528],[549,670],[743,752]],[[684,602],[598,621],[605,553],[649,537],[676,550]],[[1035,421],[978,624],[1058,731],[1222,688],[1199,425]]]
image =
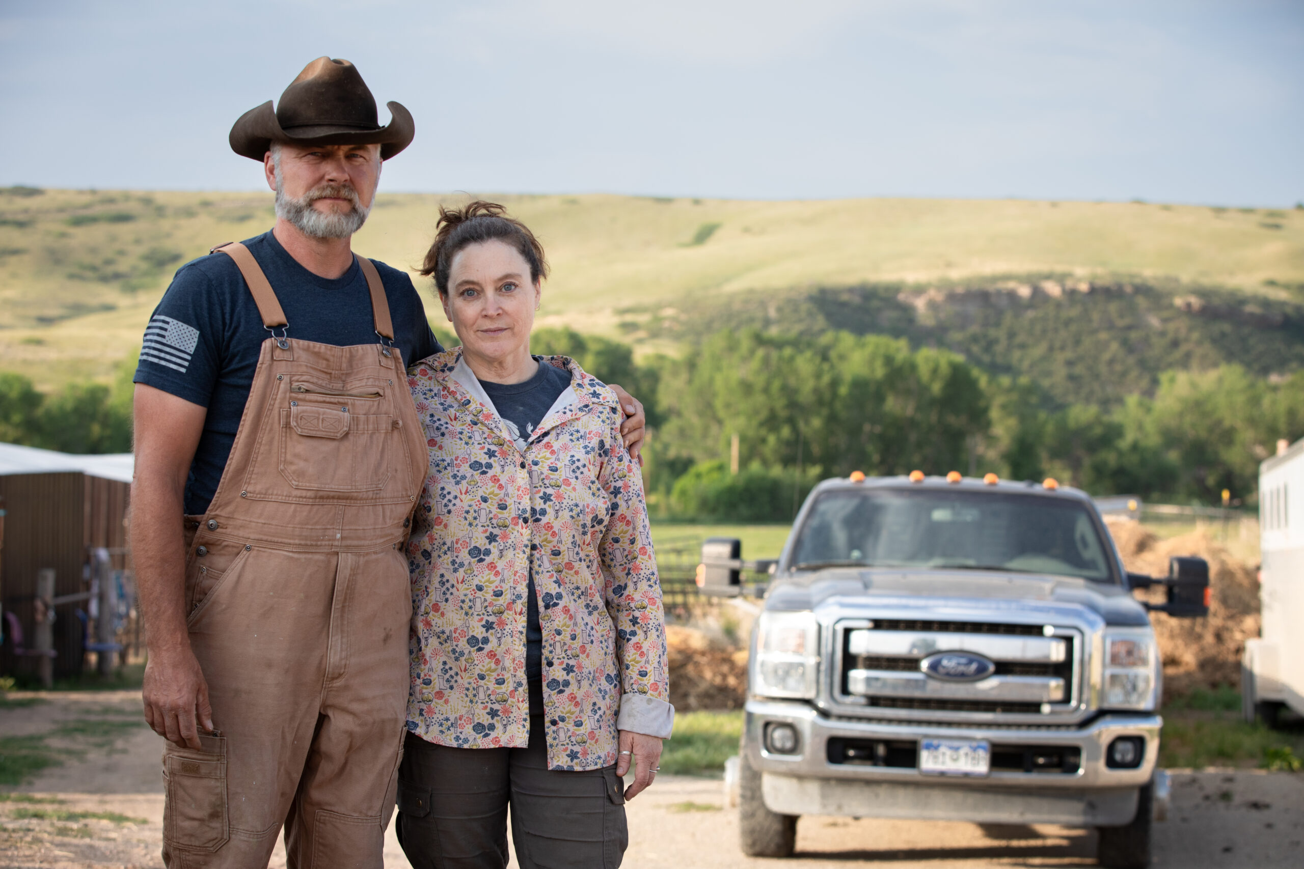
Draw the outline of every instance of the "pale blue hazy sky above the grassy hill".
[[[1299,0],[0,0],[0,184],[259,189],[321,55],[416,116],[389,190],[1304,199]]]

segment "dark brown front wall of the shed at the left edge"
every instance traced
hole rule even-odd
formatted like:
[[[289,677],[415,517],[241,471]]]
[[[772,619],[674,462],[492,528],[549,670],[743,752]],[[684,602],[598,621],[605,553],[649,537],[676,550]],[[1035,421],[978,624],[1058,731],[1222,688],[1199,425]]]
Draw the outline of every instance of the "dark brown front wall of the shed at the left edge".
[[[37,571],[55,568],[55,595],[85,590],[82,564],[86,562],[86,478],[81,473],[0,476],[4,496],[4,550],[0,551],[0,594],[5,612],[17,612],[23,641],[33,641],[33,606]],[[81,603],[56,607],[55,676],[72,676],[82,667],[82,633],[77,619]],[[13,638],[5,625],[0,650],[0,674],[33,674],[35,658],[12,654]]]

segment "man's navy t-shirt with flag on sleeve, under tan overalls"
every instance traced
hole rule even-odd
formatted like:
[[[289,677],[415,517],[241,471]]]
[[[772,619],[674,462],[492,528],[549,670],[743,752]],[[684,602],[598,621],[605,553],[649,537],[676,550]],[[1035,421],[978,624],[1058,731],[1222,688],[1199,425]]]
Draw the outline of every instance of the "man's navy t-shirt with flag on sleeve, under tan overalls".
[[[329,280],[295,262],[271,232],[244,244],[286,311],[291,339],[336,347],[379,341],[366,276],[356,262],[343,276]],[[403,362],[439,352],[412,279],[385,263],[376,263],[376,270],[385,284]],[[185,485],[186,513],[203,513],[218,490],[267,337],[258,306],[227,254],[209,254],[181,266],[154,309],[134,382],[209,410]]]

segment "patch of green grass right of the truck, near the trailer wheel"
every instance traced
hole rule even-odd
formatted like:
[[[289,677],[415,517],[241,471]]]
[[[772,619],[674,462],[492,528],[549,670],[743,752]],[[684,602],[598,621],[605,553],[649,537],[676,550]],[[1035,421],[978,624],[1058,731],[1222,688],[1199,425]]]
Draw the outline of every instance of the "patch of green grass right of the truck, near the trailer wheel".
[[[1262,723],[1247,724],[1231,713],[1164,710],[1159,743],[1159,766],[1163,767],[1288,769],[1287,758],[1297,761],[1299,754],[1304,754],[1304,732],[1299,730],[1277,731]]]

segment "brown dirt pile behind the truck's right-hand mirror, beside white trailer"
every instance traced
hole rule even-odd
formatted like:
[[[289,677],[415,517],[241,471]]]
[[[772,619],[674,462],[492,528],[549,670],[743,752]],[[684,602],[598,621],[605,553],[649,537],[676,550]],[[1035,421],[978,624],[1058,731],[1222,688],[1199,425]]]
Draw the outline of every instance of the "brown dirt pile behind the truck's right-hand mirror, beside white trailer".
[[[1205,619],[1151,615],[1163,657],[1164,693],[1181,694],[1196,687],[1240,684],[1240,657],[1245,640],[1258,636],[1258,577],[1254,565],[1232,556],[1208,532],[1196,530],[1161,539],[1134,521],[1108,522],[1128,571],[1166,576],[1168,558],[1197,555],[1209,562],[1213,599]],[[1163,589],[1153,588],[1150,601],[1161,602]]]

